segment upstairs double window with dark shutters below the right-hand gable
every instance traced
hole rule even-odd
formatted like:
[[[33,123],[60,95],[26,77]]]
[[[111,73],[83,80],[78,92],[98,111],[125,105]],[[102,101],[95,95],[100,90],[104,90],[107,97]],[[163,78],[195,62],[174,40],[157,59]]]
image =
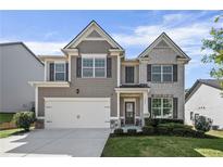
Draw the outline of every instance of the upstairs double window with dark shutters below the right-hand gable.
[[[152,81],[173,81],[173,65],[152,65]]]

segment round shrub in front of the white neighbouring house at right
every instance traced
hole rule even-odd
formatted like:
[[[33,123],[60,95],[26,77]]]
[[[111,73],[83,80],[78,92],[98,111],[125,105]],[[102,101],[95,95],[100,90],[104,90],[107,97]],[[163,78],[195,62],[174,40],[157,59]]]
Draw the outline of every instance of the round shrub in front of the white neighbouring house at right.
[[[195,128],[196,130],[205,133],[211,129],[212,120],[210,118],[207,118],[205,116],[199,116],[197,119],[195,119]]]

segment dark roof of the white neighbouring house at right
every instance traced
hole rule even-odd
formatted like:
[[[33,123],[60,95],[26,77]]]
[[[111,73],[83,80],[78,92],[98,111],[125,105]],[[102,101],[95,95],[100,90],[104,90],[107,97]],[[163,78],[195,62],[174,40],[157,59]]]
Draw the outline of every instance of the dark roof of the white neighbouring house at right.
[[[185,99],[186,99],[186,102],[189,100],[189,98],[198,90],[198,88],[203,84],[206,86],[209,86],[209,87],[213,87],[213,88],[216,88],[216,89],[220,89],[222,90],[222,82],[223,82],[223,79],[198,79],[194,86],[187,91],[186,95],[185,95]]]

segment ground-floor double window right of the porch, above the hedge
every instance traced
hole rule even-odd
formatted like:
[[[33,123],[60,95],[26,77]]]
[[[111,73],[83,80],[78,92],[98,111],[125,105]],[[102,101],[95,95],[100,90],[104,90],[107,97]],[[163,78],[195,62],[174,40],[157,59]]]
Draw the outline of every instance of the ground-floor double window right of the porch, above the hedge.
[[[172,118],[173,117],[173,99],[171,98],[152,99],[152,117]]]

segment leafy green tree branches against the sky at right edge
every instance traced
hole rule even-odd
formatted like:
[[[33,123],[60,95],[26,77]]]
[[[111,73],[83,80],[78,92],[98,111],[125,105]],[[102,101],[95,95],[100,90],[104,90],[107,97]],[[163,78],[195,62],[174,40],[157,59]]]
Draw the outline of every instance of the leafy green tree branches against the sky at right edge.
[[[222,18],[223,15],[220,15],[214,22],[222,22]],[[211,53],[203,55],[201,61],[203,63],[214,63],[214,67],[211,69],[210,75],[216,79],[221,79],[223,78],[223,27],[212,27],[210,35],[210,39],[202,40],[201,50],[208,50],[211,51]]]

